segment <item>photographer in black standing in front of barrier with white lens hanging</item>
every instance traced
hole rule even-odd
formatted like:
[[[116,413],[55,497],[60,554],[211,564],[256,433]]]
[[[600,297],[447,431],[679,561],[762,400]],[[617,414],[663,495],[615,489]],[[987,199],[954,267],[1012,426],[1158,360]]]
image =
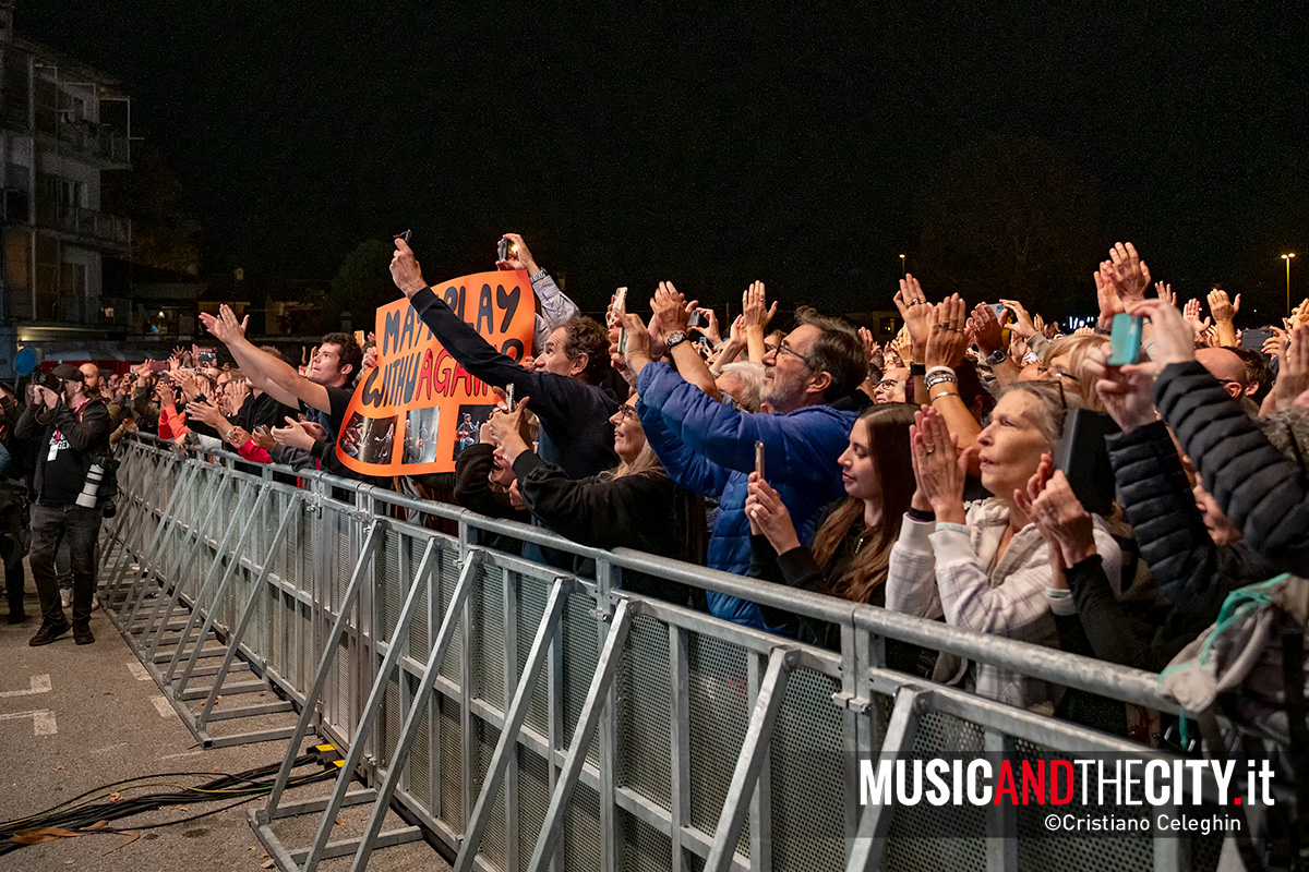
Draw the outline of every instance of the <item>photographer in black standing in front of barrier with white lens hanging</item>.
[[[35,399],[18,418],[20,439],[42,439],[37,459],[31,507],[31,575],[41,597],[41,629],[29,645],[48,645],[69,630],[59,601],[55,553],[67,536],[73,567],[73,639],[90,645],[92,599],[96,595],[96,537],[99,506],[94,493],[84,494],[93,465],[109,454],[109,409],[86,395],[85,375],[62,363],[35,383]],[[58,390],[58,392],[56,392]],[[90,506],[82,505],[90,502]]]

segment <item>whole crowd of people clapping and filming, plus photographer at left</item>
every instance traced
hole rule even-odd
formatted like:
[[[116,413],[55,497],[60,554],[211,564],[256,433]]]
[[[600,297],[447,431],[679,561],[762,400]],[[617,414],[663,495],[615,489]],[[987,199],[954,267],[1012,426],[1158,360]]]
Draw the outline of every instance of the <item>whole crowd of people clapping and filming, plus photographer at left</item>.
[[[1204,314],[1200,301],[1152,285],[1135,248],[1119,243],[1088,281],[1094,328],[1066,335],[1030,301],[970,309],[957,294],[933,299],[906,275],[894,293],[903,327],[881,344],[808,307],[779,314],[762,282],[744,292],[725,332],[672,282],[648,305],[615,295],[601,323],[580,314],[521,237],[505,243],[497,265],[525,271],[537,295],[521,361],[452,311],[397,239],[391,276],[415,314],[469,374],[516,400],[503,399],[479,426],[463,422],[453,473],[373,484],[584,545],[1149,671],[1213,624],[1232,591],[1309,570],[1309,301],[1279,326],[1242,333],[1240,295],[1210,293]],[[1128,361],[1111,348],[1119,315],[1143,326]],[[42,611],[33,645],[69,629],[55,558],[65,541],[71,628],[79,643],[92,641],[90,553],[106,498],[88,507],[79,497],[90,468],[134,430],[181,450],[228,447],[243,464],[361,477],[335,447],[350,438],[346,408],[374,348],[329,333],[297,367],[250,341],[229,307],[202,319],[226,366],[198,367],[178,349],[107,379],[60,366],[51,386],[3,397],[0,435],[13,458],[0,509],[9,621],[24,620],[13,567],[26,546],[26,493]],[[1073,441],[1069,452],[1069,434],[1088,428],[1107,435]],[[1106,505],[1083,475],[1097,461],[1114,478]],[[590,571],[552,549],[525,553]],[[839,643],[833,626],[747,597],[631,573],[623,586]],[[895,641],[885,656],[894,669],[991,699],[1139,728],[1121,703],[1090,705],[1009,669]]]

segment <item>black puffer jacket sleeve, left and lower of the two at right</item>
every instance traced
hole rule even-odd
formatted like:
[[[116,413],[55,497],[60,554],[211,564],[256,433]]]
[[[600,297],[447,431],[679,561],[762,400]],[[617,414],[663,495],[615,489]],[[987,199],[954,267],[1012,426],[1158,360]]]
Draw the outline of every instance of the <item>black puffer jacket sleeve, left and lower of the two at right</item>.
[[[1274,574],[1244,541],[1213,544],[1162,422],[1117,433],[1105,443],[1141,557],[1181,626],[1198,633],[1217,618],[1228,594]]]

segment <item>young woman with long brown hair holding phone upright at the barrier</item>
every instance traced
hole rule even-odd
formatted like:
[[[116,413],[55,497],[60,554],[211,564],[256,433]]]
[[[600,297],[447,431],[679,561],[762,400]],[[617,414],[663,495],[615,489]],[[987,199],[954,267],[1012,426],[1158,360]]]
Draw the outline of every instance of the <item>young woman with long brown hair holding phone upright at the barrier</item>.
[[[908,438],[914,411],[912,405],[894,403],[874,405],[859,416],[850,431],[850,446],[836,459],[848,497],[829,509],[808,548],[778,492],[757,475],[750,476],[745,511],[754,535],[753,574],[853,603],[885,605],[891,546],[914,497]],[[780,624],[787,617],[774,614],[767,620]],[[791,622],[804,642],[829,647],[835,643],[830,625],[793,617]],[[897,648],[888,648],[891,668],[916,671],[918,650]]]

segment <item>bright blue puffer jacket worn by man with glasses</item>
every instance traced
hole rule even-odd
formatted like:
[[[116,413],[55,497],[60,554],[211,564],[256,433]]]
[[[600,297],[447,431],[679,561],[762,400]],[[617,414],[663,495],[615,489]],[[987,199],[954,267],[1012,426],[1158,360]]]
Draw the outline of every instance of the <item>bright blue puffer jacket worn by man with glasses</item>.
[[[857,412],[812,405],[789,414],[750,414],[729,408],[687,383],[666,363],[649,363],[636,383],[645,439],[682,488],[723,495],[709,537],[708,565],[745,575],[750,567],[746,484],[754,472],[754,443],[763,442],[764,475],[781,495],[801,541],[823,507],[846,495],[836,458],[850,442]],[[758,604],[708,592],[715,617],[778,633]]]

